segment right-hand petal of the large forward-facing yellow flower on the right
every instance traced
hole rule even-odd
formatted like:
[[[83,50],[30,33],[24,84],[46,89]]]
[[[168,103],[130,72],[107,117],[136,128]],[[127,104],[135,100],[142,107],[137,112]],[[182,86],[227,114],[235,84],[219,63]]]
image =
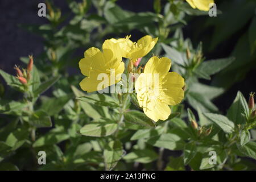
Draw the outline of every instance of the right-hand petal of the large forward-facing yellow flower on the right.
[[[168,105],[177,105],[184,98],[184,78],[176,72],[167,73],[163,79],[163,92],[160,92],[160,100]]]

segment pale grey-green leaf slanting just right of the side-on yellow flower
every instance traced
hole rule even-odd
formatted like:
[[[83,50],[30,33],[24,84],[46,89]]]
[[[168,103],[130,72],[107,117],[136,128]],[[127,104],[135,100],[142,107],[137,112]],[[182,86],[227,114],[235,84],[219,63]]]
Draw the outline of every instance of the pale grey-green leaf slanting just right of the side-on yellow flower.
[[[172,61],[174,61],[174,63],[181,65],[181,66],[185,66],[185,60],[183,59],[181,53],[179,51],[176,51],[176,49],[167,46],[164,43],[161,43],[161,46],[163,47],[164,51],[167,54],[167,57],[170,58]]]

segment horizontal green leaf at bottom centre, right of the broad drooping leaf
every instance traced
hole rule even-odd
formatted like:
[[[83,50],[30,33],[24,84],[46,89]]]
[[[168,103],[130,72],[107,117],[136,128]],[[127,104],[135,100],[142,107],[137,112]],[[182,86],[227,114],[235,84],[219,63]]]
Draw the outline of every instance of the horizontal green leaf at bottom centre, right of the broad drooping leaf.
[[[138,162],[146,164],[158,159],[158,154],[156,154],[154,150],[150,149],[135,150],[125,155],[123,159],[127,160],[127,162]]]

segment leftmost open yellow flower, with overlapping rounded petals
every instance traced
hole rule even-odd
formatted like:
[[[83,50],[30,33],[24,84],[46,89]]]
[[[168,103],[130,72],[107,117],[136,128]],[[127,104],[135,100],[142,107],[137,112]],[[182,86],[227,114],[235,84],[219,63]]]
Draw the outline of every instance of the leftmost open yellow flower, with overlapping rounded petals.
[[[122,62],[122,56],[118,51],[118,46],[110,40],[105,40],[102,45],[103,51],[91,47],[84,52],[84,58],[79,61],[79,68],[84,76],[80,82],[82,90],[94,92],[102,90],[112,84],[116,84],[121,80],[121,74],[125,71],[125,64]],[[102,77],[98,77],[101,73],[105,73],[108,77],[108,84],[98,85],[102,82]],[[114,76],[114,81],[110,81]]]

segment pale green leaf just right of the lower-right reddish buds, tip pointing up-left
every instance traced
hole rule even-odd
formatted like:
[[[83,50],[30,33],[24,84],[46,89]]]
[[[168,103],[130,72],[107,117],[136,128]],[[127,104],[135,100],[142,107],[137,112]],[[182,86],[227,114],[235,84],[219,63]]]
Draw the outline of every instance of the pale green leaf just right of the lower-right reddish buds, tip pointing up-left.
[[[234,131],[234,123],[224,115],[212,113],[205,113],[204,115],[218,125],[225,133],[232,133]]]

